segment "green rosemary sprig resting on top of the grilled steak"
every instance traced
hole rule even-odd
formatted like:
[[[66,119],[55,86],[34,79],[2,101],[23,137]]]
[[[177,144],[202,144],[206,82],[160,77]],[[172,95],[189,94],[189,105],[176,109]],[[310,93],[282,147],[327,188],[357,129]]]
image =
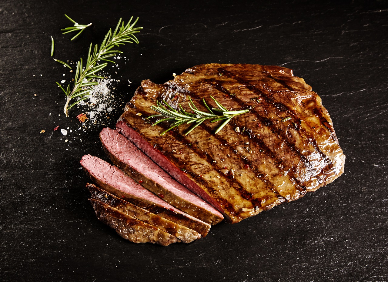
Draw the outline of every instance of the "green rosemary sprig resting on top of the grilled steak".
[[[173,129],[174,127],[180,126],[184,123],[195,123],[194,126],[192,126],[189,131],[186,132],[185,135],[189,134],[194,128],[196,128],[198,125],[203,123],[206,119],[213,119],[211,122],[214,123],[216,121],[225,120],[222,125],[218,127],[218,129],[215,131],[217,134],[222,128],[229,123],[230,119],[232,119],[235,116],[238,116],[240,114],[244,114],[246,112],[249,112],[250,109],[246,110],[240,110],[240,111],[229,111],[224,106],[222,106],[216,99],[214,99],[212,96],[210,96],[211,99],[214,100],[214,102],[217,105],[217,108],[211,108],[206,104],[205,99],[202,99],[204,106],[206,109],[208,109],[209,112],[203,112],[199,111],[197,107],[194,105],[193,101],[189,97],[189,107],[192,110],[191,112],[186,112],[182,105],[179,104],[180,109],[177,111],[173,109],[165,100],[163,100],[163,103],[166,105],[163,106],[163,104],[159,101],[156,102],[156,106],[152,105],[151,109],[155,112],[158,112],[159,114],[154,114],[152,116],[149,116],[147,119],[150,118],[161,118],[158,119],[152,126],[157,125],[158,123],[161,123],[162,121],[175,121],[173,124],[171,124],[171,127],[167,130],[163,131],[160,135],[164,135],[167,131]],[[212,111],[213,110],[213,111]],[[214,112],[217,112],[218,114],[215,114]]]

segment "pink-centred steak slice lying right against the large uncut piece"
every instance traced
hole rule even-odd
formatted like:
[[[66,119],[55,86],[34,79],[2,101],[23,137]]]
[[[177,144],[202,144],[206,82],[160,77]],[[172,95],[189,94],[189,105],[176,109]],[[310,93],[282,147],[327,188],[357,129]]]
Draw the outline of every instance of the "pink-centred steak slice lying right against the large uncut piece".
[[[217,209],[173,180],[117,130],[104,128],[100,140],[116,166],[175,208],[211,225],[223,220]]]

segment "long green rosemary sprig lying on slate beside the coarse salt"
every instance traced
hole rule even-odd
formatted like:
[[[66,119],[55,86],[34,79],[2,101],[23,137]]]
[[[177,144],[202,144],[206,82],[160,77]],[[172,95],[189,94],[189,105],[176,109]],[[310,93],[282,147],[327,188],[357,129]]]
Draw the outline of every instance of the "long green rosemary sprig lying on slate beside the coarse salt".
[[[90,43],[88,57],[86,60],[86,64],[84,64],[82,58],[77,62],[77,68],[75,71],[74,77],[74,87],[73,90],[70,91],[70,85],[67,86],[66,90],[57,82],[57,85],[62,89],[62,91],[66,94],[67,100],[66,104],[63,108],[66,117],[69,116],[69,109],[82,100],[88,98],[88,93],[92,91],[90,86],[97,85],[97,81],[93,81],[95,78],[104,78],[102,76],[95,75],[98,71],[107,66],[107,62],[113,61],[108,58],[114,57],[117,53],[123,53],[119,50],[112,50],[113,47],[120,47],[120,45],[124,45],[125,43],[139,43],[134,33],[140,32],[140,28],[134,28],[137,18],[132,24],[133,17],[128,21],[127,24],[121,22],[121,18],[116,26],[116,29],[112,32],[112,29],[109,29],[106,34],[104,40],[102,41],[100,48],[98,44],[94,46],[92,52],[92,43]],[[57,60],[56,60],[57,61]],[[99,61],[104,61],[102,64],[97,64]],[[63,62],[61,62],[63,63]],[[66,65],[66,64],[65,64]],[[69,102],[71,99],[80,98],[73,104],[69,106]]]

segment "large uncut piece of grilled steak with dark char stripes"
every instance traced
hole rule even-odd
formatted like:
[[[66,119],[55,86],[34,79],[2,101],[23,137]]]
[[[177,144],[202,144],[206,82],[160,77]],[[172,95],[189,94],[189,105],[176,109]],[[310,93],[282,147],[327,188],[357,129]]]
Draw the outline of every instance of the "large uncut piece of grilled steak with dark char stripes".
[[[186,111],[189,97],[201,111],[213,96],[230,110],[251,108],[217,134],[222,123],[152,127],[156,101]],[[152,119],[155,122],[156,119]],[[142,81],[116,125],[178,182],[236,223],[333,182],[343,154],[321,99],[292,70],[248,64],[203,64],[162,85]]]

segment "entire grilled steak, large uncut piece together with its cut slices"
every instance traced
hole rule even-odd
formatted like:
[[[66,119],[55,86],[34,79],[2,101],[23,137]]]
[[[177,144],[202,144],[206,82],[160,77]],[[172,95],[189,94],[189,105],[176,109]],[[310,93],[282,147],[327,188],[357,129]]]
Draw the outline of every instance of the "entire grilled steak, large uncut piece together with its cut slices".
[[[217,134],[222,121],[161,135],[171,123],[148,119],[163,101],[190,111],[192,100],[206,112],[210,96],[249,112]],[[190,242],[223,218],[237,223],[299,199],[333,182],[345,164],[320,97],[278,66],[202,64],[161,85],[144,80],[116,130],[104,128],[100,140],[114,166],[88,155],[81,161],[105,191],[88,186],[97,217],[133,242],[162,245],[174,242],[170,235]]]

